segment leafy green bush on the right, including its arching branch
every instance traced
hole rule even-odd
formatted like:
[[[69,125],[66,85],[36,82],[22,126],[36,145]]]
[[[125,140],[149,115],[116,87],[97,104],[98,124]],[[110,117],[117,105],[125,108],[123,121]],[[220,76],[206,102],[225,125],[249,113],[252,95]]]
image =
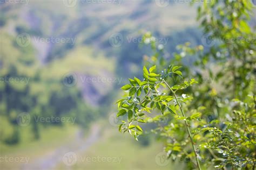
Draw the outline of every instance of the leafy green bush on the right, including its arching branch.
[[[154,122],[157,128],[151,126],[151,131],[164,141],[168,158],[187,160],[187,168],[200,169],[201,165],[255,169],[256,44],[239,40],[255,38],[248,25],[251,5],[242,0],[216,0],[204,1],[199,6],[198,19],[204,33],[216,40],[210,48],[191,47],[187,42],[177,47],[180,53],[167,60],[164,49],[151,41],[153,54],[145,65],[157,65],[162,71],[153,72],[158,76],[152,76],[144,67],[142,82],[146,84],[140,87],[136,78],[122,88],[127,91],[127,98],[119,100],[118,107],[125,111],[121,115],[128,113],[128,118],[119,131],[128,131],[137,139],[142,133],[139,130],[137,133],[137,125]],[[150,36],[147,33],[144,39],[151,39]],[[194,63],[196,69],[183,64],[189,55],[198,56]],[[169,67],[170,64],[174,67]],[[154,67],[150,70],[155,70]],[[197,82],[197,86],[190,87]],[[137,93],[139,88],[144,90],[143,95]],[[134,101],[138,102],[133,105]],[[138,110],[134,114],[130,111],[134,115],[132,121],[129,109],[123,108],[127,102]],[[167,124],[161,123],[164,117],[168,118]],[[129,131],[130,125],[134,131]]]

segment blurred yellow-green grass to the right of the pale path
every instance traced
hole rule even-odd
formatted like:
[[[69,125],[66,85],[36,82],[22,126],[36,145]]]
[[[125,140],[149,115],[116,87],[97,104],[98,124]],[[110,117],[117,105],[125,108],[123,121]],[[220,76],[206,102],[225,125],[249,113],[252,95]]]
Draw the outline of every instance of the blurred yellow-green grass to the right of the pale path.
[[[129,134],[118,132],[118,128],[106,122],[101,137],[85,153],[77,154],[78,161],[70,169],[182,169],[181,164],[173,165],[170,161],[166,166],[156,163],[156,156],[163,151],[163,146],[152,140],[149,146],[142,146]],[[114,161],[86,161],[84,158],[118,158],[120,163]],[[88,160],[88,159],[87,159]],[[56,169],[65,169],[65,164],[59,164]]]

